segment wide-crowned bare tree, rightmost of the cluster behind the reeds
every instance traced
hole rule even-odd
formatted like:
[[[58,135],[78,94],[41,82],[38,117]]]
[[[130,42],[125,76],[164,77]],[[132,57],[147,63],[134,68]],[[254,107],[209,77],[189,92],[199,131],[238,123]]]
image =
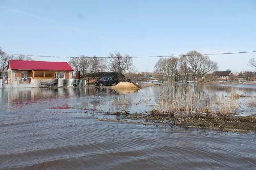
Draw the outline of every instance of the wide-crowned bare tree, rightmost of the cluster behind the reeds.
[[[209,72],[218,70],[217,62],[211,61],[207,55],[201,55],[197,51],[190,51],[187,55],[188,65],[195,75],[195,81]]]

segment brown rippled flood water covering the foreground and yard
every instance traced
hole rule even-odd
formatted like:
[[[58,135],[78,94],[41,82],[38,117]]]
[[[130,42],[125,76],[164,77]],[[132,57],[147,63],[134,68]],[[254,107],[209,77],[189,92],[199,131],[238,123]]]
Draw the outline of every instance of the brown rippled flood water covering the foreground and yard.
[[[193,88],[228,96],[224,85]],[[103,112],[124,108],[147,112],[160,90],[0,89],[0,169],[256,169],[255,133],[97,120],[120,118]],[[236,92],[250,96],[237,99],[236,111],[256,113],[246,104],[256,86],[236,86]]]

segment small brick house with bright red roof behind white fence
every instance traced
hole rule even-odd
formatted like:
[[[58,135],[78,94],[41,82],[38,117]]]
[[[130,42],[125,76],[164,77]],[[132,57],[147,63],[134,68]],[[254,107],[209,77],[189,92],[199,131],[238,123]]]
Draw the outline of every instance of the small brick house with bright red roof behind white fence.
[[[33,79],[72,78],[73,69],[67,62],[9,60],[8,77]]]

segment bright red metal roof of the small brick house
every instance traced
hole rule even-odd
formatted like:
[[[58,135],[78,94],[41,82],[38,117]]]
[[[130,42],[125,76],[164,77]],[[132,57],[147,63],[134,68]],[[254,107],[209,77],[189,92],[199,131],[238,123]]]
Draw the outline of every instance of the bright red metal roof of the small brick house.
[[[67,62],[9,60],[12,70],[57,70],[73,71]]]

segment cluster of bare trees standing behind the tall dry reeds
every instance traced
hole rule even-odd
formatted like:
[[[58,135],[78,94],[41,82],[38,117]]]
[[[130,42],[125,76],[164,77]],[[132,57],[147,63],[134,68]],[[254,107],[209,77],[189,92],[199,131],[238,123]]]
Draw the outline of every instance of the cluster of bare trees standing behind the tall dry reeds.
[[[218,70],[217,62],[211,61],[209,56],[197,51],[189,51],[180,57],[160,58],[154,68],[162,79],[165,78],[172,82],[178,79],[187,82],[191,77],[194,81],[199,81],[207,73],[216,70]]]

